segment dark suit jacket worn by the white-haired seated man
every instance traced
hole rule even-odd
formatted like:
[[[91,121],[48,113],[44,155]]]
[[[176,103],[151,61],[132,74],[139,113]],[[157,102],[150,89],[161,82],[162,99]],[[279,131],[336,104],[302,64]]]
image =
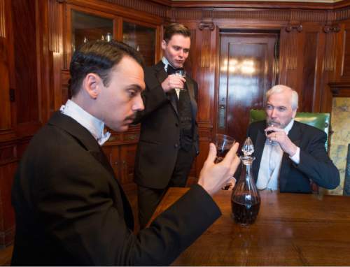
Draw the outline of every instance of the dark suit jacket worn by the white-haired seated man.
[[[247,136],[254,145],[253,175],[258,179],[262,151],[265,145],[266,122],[253,122],[248,127]],[[339,171],[325,151],[325,132],[307,124],[294,121],[288,133],[290,140],[300,147],[300,164],[295,164],[283,153],[281,171],[279,173],[280,192],[310,193],[310,180],[318,186],[335,189],[339,185]]]

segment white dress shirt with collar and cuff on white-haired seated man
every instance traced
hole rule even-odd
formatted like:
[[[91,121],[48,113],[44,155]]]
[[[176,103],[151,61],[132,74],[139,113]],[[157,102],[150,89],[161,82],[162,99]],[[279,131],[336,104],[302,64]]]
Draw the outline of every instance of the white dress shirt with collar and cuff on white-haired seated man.
[[[288,125],[283,129],[288,135],[290,129],[292,129],[294,120],[291,120]],[[256,182],[256,187],[260,190],[279,189],[279,172],[281,169],[283,157],[283,150],[279,146],[279,143],[270,142],[266,139],[264,150],[262,151],[260,168],[258,173],[258,180]],[[300,148],[297,147],[297,151],[290,157],[295,164],[300,162]]]

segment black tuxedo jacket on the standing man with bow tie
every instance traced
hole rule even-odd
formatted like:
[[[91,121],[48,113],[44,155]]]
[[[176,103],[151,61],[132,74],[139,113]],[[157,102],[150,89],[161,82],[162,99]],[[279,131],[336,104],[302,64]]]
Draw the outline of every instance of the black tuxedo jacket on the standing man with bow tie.
[[[161,83],[167,78],[164,65],[159,62],[145,69],[146,90],[142,92],[145,109],[137,114],[134,123],[141,122],[141,133],[135,159],[134,180],[144,187],[167,187],[176,164],[180,128],[173,89],[165,94]],[[186,76],[193,117],[193,145],[198,153],[197,92],[195,80]]]

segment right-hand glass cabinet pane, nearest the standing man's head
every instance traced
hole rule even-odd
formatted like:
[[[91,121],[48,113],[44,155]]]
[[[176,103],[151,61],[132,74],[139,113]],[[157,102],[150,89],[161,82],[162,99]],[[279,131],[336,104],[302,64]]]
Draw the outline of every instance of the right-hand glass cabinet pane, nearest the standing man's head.
[[[146,66],[155,64],[155,28],[123,22],[123,42],[141,52]]]

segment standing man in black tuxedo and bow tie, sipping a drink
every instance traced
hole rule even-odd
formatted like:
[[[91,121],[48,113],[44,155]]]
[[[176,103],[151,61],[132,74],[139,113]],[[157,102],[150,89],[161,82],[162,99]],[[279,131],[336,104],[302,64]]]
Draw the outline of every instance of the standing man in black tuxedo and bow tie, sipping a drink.
[[[190,52],[190,31],[182,24],[165,27],[158,64],[146,68],[145,109],[137,114],[141,133],[134,180],[139,221],[146,226],[168,187],[184,187],[198,150],[197,82],[176,75]]]

